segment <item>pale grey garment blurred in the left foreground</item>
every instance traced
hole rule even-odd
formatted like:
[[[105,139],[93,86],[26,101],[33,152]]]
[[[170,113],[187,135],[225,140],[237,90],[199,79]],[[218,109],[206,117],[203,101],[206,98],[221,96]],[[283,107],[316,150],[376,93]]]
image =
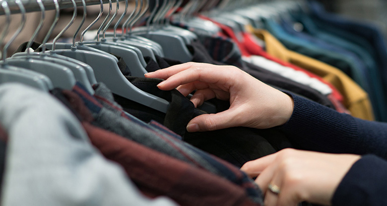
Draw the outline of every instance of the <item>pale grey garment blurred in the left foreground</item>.
[[[46,93],[0,86],[8,133],[2,206],[175,206],[144,198],[117,164],[90,144],[77,118]]]

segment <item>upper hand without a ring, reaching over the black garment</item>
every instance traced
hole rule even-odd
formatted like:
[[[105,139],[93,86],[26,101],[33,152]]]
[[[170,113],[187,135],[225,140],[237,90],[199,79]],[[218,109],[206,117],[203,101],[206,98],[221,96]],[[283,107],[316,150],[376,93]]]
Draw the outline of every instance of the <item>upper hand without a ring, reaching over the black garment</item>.
[[[145,77],[164,79],[158,85],[161,90],[177,88],[185,96],[197,90],[191,98],[195,106],[213,98],[230,101],[226,111],[192,119],[187,126],[189,132],[237,126],[265,129],[286,123],[293,112],[290,96],[234,66],[190,62]]]

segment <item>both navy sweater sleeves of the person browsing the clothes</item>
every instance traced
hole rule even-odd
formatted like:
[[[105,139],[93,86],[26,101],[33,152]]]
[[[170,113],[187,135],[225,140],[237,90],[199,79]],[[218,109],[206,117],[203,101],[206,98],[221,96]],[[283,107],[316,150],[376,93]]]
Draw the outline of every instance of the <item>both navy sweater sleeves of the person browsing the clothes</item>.
[[[332,205],[387,206],[387,124],[357,119],[287,94],[294,99],[294,111],[279,128],[296,147],[364,155],[340,182]]]

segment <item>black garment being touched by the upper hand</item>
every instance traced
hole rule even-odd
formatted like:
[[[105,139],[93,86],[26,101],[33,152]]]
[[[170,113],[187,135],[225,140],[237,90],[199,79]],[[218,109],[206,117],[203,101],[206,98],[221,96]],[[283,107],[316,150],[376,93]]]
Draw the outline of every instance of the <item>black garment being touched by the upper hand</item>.
[[[159,69],[158,63],[150,58],[146,58],[148,66],[146,69]],[[166,64],[165,59],[158,58],[161,64]],[[274,141],[284,136],[278,130],[257,130],[245,127],[228,128],[211,132],[189,133],[186,130],[188,122],[194,117],[205,112],[194,107],[194,104],[184,97],[179,91],[162,91],[157,88],[162,80],[126,76],[126,78],[137,88],[147,93],[153,94],[170,102],[166,114],[151,109],[147,106],[135,103],[126,98],[114,95],[117,103],[123,106],[124,110],[136,116],[137,118],[148,122],[156,120],[166,127],[181,135],[184,141],[193,146],[214,154],[226,161],[241,167],[245,162],[257,159],[259,157],[275,153],[270,143],[263,138],[272,138]],[[219,109],[227,109],[228,102],[213,101]],[[281,139],[282,141],[282,139]],[[283,142],[283,141],[282,141]],[[288,142],[286,140],[286,142]],[[279,145],[279,144],[278,144]]]

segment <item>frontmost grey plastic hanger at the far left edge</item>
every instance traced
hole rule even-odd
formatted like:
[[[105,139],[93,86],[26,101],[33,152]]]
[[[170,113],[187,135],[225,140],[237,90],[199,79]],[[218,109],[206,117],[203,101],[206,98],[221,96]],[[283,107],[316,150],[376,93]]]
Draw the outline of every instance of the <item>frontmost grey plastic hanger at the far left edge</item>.
[[[11,12],[6,0],[1,0],[0,2],[1,2],[0,3],[1,7],[3,8],[6,16],[5,26],[3,27],[3,31],[0,35],[0,45],[1,45],[1,43],[5,38],[5,35],[9,31]],[[23,21],[23,18],[25,19],[25,17],[22,17],[22,22],[20,23],[15,34],[11,37],[11,39],[5,44],[3,48],[2,61],[0,62],[0,83],[18,82],[18,83],[22,83],[24,85],[28,85],[36,89],[48,92],[54,87],[51,83],[51,80],[47,76],[43,74],[39,74],[34,71],[26,70],[23,68],[10,66],[6,62],[6,55],[7,55],[7,50],[9,46],[15,40],[15,38],[20,34],[22,28],[24,27],[25,21]]]

